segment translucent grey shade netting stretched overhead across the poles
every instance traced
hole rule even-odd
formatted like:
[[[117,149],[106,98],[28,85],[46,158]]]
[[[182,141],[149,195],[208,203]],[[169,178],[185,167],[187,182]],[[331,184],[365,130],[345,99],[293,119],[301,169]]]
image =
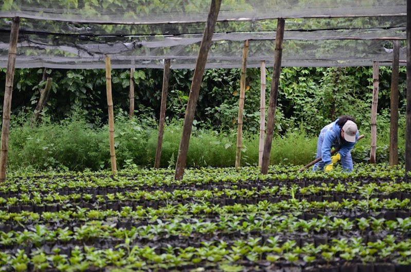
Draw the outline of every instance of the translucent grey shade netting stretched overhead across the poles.
[[[11,17],[22,18],[16,68],[194,68],[211,1],[6,0],[0,67]],[[391,65],[392,40],[406,38],[406,1],[223,1],[206,68],[272,65],[277,18],[286,18],[282,66]],[[400,65],[405,65],[405,42]]]

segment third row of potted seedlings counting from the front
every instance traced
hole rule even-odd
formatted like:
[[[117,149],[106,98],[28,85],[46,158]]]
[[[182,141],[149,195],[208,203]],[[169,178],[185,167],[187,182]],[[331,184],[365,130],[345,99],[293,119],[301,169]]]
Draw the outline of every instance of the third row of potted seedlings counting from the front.
[[[67,203],[50,205],[17,205],[6,206],[0,210],[0,222],[5,220],[40,219],[52,220],[55,218],[65,219],[70,216],[86,217],[95,219],[108,215],[133,217],[134,219],[145,219],[151,217],[172,218],[175,216],[185,217],[215,217],[236,215],[274,215],[278,213],[293,213],[296,216],[303,214],[301,219],[311,219],[318,216],[358,217],[367,214],[374,217],[384,217],[392,220],[395,217],[408,217],[410,215],[410,200],[403,201],[394,199],[379,200],[350,200],[342,202],[308,202],[306,200],[288,200],[280,202],[260,201],[257,204],[220,205],[222,203],[187,203],[166,204],[164,201],[148,202],[139,205],[133,201],[114,201],[103,203]],[[224,203],[226,204],[226,203]]]

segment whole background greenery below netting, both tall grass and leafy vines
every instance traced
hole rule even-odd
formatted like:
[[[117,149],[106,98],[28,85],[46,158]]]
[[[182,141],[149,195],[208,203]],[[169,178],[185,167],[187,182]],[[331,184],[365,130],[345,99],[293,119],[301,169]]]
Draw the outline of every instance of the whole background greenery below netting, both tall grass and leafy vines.
[[[105,75],[101,69],[51,70],[52,92],[43,122],[33,124],[32,111],[37,104],[43,69],[17,69],[12,102],[10,167],[100,169],[109,167],[109,143],[105,124],[107,106]],[[116,153],[120,167],[128,164],[152,166],[157,144],[157,129],[162,70],[145,69],[134,73],[136,111],[129,121],[129,70],[113,70],[113,100],[116,116]],[[172,70],[167,100],[163,167],[173,166],[184,118],[192,70]],[[272,68],[267,69],[267,101]],[[378,114],[379,161],[387,159],[389,143],[389,67],[380,67]],[[187,165],[232,166],[239,100],[239,69],[205,71],[190,141]],[[0,88],[5,84],[5,69],[0,72]],[[372,68],[283,67],[276,114],[273,164],[306,164],[313,159],[318,131],[339,115],[357,119],[360,133],[355,160],[369,156],[369,119],[372,98]],[[244,107],[243,165],[258,161],[260,107],[260,71],[247,69]],[[400,67],[400,161],[404,152],[405,67]],[[268,103],[267,103],[268,104]]]

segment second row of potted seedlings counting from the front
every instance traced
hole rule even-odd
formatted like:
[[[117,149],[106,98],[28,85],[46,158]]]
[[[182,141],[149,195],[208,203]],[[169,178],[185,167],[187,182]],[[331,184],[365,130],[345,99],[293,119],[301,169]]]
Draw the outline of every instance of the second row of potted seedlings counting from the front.
[[[272,224],[271,220],[276,220],[277,224]],[[0,231],[0,245],[6,249],[7,246],[27,246],[28,244],[39,246],[46,242],[59,244],[76,242],[77,245],[81,245],[83,243],[101,243],[105,240],[113,243],[113,241],[118,239],[123,241],[128,237],[138,238],[140,243],[150,241],[170,243],[169,239],[177,241],[179,238],[187,242],[198,242],[210,241],[210,239],[227,241],[227,239],[233,240],[242,236],[261,238],[264,235],[277,235],[282,239],[295,239],[297,237],[303,240],[298,245],[305,242],[325,244],[332,239],[352,237],[367,237],[366,241],[373,242],[382,240],[388,235],[395,237],[398,241],[411,238],[409,233],[410,217],[397,221],[384,221],[374,217],[361,217],[356,221],[341,220],[335,217],[333,220],[324,217],[320,220],[306,221],[292,217],[273,216],[266,219],[257,218],[253,222],[246,219],[226,222],[198,222],[198,220],[192,219],[185,220],[185,222],[180,220],[148,222],[110,218],[88,222],[74,220],[69,223],[33,224],[20,230],[10,230],[12,226],[9,225],[9,229]],[[13,229],[15,228],[13,227]],[[324,242],[316,241],[317,235]]]

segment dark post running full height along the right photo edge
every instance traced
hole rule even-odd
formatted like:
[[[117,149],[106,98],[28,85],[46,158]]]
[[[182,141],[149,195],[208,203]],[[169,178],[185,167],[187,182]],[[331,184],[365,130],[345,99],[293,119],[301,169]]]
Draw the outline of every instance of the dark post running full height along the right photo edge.
[[[411,172],[411,0],[407,0],[407,105],[405,122],[405,176],[408,176],[408,172]]]

